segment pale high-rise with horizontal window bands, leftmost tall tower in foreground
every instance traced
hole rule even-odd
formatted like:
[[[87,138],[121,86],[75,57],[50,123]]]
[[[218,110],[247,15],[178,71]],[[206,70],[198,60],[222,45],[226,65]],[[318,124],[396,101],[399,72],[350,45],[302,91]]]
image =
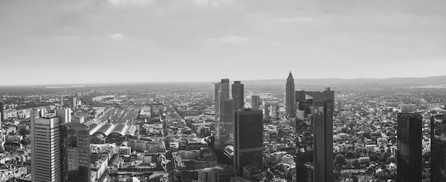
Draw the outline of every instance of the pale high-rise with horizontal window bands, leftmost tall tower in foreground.
[[[40,112],[40,113],[39,113]],[[31,110],[31,178],[33,182],[61,181],[59,118],[54,114],[39,117]]]

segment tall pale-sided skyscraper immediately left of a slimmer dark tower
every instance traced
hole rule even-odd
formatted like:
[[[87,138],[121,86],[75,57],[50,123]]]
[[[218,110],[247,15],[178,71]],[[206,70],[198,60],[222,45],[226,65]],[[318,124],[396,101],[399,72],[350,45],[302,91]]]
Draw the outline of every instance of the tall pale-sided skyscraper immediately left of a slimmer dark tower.
[[[229,79],[222,79],[215,85],[215,149],[223,149],[226,134],[224,132],[224,100],[229,98]]]

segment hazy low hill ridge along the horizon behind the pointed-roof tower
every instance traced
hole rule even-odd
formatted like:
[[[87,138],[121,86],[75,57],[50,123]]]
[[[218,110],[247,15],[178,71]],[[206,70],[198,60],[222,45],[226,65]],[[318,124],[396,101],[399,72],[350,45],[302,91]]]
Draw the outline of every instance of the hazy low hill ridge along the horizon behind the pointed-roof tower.
[[[286,78],[275,80],[245,80],[245,84],[285,85]],[[294,79],[296,85],[398,85],[407,87],[441,87],[446,85],[446,75],[435,77],[390,77],[390,78],[323,78],[323,79]]]

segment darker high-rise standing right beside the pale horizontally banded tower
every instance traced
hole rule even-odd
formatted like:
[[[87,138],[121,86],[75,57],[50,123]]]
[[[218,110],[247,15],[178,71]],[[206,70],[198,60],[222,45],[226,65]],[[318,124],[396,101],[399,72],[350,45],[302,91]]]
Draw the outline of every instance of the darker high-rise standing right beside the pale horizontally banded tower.
[[[90,181],[90,134],[85,124],[61,124],[61,181]]]

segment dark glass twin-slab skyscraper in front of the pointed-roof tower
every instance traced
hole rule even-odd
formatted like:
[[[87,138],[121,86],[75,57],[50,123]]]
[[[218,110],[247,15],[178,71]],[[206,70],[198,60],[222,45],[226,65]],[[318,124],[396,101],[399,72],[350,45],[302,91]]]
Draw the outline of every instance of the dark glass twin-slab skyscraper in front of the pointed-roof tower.
[[[296,181],[333,181],[334,91],[295,93]]]

